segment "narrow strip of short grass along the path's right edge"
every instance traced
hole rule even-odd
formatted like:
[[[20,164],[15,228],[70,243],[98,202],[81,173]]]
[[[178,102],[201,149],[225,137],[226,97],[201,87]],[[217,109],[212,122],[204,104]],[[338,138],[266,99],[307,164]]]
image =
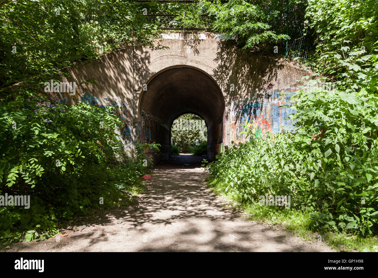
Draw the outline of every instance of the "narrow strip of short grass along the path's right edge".
[[[232,208],[236,208],[247,215],[251,220],[277,225],[282,230],[287,230],[306,240],[318,240],[321,235],[322,242],[337,251],[378,252],[378,237],[363,238],[358,234],[331,233],[322,229],[314,229],[310,214],[300,209],[279,209],[275,206],[262,206],[259,202],[246,203],[232,191],[226,192],[227,184],[220,179],[208,177],[207,186],[212,191],[227,200]]]

